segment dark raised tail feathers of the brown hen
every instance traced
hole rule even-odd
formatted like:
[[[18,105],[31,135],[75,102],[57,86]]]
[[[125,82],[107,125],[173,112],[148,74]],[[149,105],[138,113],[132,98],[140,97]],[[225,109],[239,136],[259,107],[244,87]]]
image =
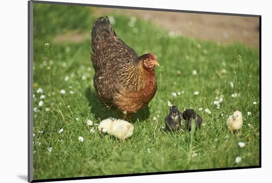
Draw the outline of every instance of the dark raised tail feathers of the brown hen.
[[[117,36],[110,25],[109,18],[99,17],[92,25],[91,48],[94,52],[97,46],[107,39],[108,36]]]

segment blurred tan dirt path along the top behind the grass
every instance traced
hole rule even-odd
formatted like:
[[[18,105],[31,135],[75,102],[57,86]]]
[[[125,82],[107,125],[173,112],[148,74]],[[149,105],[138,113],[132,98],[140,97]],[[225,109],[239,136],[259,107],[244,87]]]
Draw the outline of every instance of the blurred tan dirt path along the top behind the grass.
[[[115,8],[93,9],[97,16],[109,16],[110,12],[116,11],[120,14],[140,17],[186,37],[226,44],[241,42],[248,46],[259,46],[259,18],[255,17]]]

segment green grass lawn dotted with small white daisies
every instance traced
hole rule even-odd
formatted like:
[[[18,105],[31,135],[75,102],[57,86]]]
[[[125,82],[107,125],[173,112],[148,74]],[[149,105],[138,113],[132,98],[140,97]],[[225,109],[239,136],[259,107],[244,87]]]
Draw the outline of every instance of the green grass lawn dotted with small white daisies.
[[[117,117],[101,107],[94,92],[90,37],[80,43],[59,43],[54,38],[69,31],[91,34],[95,18],[90,7],[34,4],[34,179],[260,164],[258,48],[169,37],[168,31],[139,19],[130,27],[130,17],[122,15],[114,16],[117,35],[139,55],[157,55],[161,65],[155,68],[158,90],[148,108],[137,113],[134,135],[124,143],[99,135],[97,126],[94,134],[89,133],[88,119],[99,123],[99,118]],[[50,44],[48,49],[45,43]],[[193,70],[197,75],[192,75]],[[65,77],[69,79],[65,81]],[[36,92],[39,88],[43,93]],[[62,89],[65,94],[60,93]],[[171,95],[181,91],[177,97]],[[194,95],[195,91],[199,95]],[[238,96],[233,98],[232,93]],[[40,99],[42,94],[44,99]],[[213,101],[220,95],[224,95],[224,101],[217,109]],[[44,104],[39,107],[41,100]],[[169,100],[182,111],[194,108],[205,124],[201,130],[194,136],[188,132],[165,133],[161,128],[169,112]],[[231,134],[226,126],[227,116],[237,109],[244,116],[239,136]],[[248,116],[248,111],[252,115]],[[64,130],[59,134],[61,128]],[[83,143],[79,136],[84,137]],[[238,147],[240,141],[246,143],[244,148]],[[238,164],[237,156],[242,157]]]

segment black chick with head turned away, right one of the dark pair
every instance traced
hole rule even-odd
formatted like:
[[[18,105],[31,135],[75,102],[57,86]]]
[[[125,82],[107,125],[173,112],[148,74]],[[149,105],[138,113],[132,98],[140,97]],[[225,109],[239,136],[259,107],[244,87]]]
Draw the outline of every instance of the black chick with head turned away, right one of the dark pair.
[[[196,129],[199,129],[202,123],[202,118],[193,109],[187,109],[183,112],[182,117],[186,120],[186,129],[191,131],[192,119],[195,119]]]

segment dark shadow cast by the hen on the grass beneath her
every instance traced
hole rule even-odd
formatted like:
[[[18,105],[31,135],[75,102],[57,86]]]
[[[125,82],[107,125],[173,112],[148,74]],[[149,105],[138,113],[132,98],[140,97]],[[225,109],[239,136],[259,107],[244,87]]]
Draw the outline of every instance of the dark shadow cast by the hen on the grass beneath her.
[[[120,115],[118,115],[118,113],[116,111],[113,110],[107,110],[104,109],[103,106],[101,105],[98,96],[96,94],[96,92],[94,91],[94,89],[91,89],[91,87],[88,87],[86,90],[86,97],[89,101],[89,106],[91,107],[91,113],[94,114],[95,118],[100,118],[101,120],[109,118],[109,117],[113,117],[116,119],[120,119]],[[143,121],[148,119],[150,116],[150,110],[149,110],[149,106],[146,105],[145,107],[143,107],[142,109],[140,109],[133,117],[132,119],[132,123],[136,122],[136,120],[138,119],[139,121]]]

